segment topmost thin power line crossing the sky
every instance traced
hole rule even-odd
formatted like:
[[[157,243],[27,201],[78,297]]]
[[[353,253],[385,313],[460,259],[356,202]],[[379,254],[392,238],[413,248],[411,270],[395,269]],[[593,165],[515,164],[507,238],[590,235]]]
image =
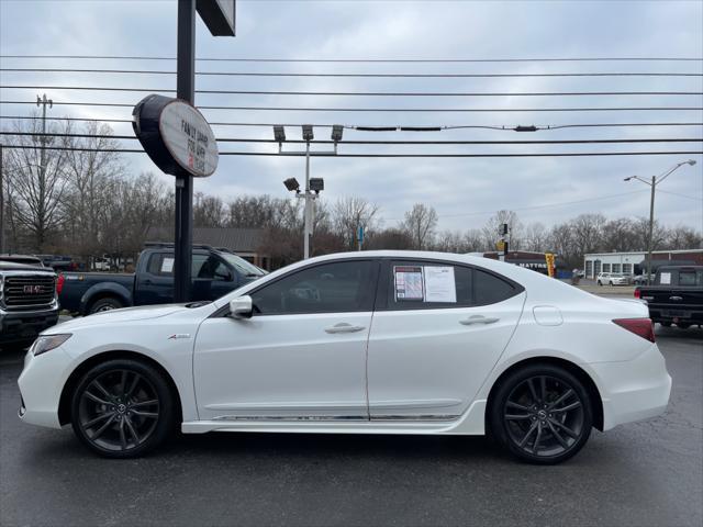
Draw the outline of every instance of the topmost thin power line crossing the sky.
[[[129,55],[0,55],[0,58],[62,58],[101,60],[176,60],[176,57]],[[239,58],[198,57],[217,63],[583,63],[583,61],[701,61],[694,57],[557,57],[557,58]]]

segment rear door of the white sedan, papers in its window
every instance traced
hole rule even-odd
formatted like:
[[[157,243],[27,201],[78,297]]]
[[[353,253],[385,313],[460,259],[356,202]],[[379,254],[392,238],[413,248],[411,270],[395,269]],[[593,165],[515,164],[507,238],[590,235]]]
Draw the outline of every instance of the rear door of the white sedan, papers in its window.
[[[436,260],[391,261],[380,283],[384,302],[377,304],[368,346],[371,419],[459,416],[517,325],[523,288]]]

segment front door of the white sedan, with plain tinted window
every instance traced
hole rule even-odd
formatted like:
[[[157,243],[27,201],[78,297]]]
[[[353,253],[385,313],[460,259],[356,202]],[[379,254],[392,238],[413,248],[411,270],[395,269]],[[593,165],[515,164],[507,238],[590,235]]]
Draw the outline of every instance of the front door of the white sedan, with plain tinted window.
[[[204,321],[193,357],[200,418],[368,419],[378,268],[371,259],[312,265],[254,290],[250,318]]]

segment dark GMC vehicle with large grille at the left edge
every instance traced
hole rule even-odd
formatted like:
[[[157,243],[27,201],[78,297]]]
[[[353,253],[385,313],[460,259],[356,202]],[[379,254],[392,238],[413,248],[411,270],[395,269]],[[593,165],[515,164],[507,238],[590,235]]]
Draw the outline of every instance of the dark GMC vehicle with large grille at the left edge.
[[[0,346],[30,343],[58,322],[56,273],[0,257]]]

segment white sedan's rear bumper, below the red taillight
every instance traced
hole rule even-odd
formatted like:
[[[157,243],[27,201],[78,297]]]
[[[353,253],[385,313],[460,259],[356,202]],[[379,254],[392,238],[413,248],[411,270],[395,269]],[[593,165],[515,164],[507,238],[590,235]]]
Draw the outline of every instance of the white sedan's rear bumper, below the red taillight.
[[[603,429],[663,414],[671,377],[657,345],[633,360],[592,363],[601,384]]]

